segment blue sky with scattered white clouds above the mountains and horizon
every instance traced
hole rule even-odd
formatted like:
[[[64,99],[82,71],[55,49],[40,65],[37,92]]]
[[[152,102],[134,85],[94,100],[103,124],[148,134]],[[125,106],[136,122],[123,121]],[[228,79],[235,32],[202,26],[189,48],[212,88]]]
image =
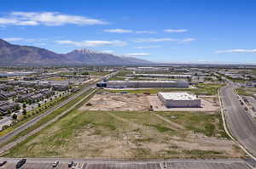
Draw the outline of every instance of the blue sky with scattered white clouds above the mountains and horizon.
[[[256,1],[22,0],[0,5],[0,38],[163,63],[256,64]]]

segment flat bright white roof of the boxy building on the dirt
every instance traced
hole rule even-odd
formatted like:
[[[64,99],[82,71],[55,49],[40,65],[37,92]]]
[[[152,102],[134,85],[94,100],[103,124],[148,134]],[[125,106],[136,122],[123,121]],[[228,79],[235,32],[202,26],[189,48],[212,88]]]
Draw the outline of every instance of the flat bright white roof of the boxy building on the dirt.
[[[189,93],[159,93],[164,99],[171,99],[171,100],[195,100],[195,95]]]

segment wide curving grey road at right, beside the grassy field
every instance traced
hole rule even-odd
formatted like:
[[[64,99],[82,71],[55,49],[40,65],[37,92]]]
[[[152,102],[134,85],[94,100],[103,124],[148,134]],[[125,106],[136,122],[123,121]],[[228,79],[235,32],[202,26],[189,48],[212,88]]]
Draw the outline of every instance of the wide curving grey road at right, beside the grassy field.
[[[256,156],[256,121],[239,102],[234,93],[234,82],[220,89],[224,115],[231,134],[253,155]]]

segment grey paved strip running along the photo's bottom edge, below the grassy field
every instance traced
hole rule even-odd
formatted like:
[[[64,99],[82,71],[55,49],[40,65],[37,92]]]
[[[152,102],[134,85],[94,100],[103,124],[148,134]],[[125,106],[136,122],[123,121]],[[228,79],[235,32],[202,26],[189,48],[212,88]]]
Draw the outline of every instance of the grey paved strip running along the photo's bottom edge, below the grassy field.
[[[6,159],[3,159],[6,160]],[[4,168],[13,169],[17,159],[8,159]],[[77,169],[250,169],[242,160],[169,160],[169,161],[95,161],[95,160],[61,160],[28,159],[23,169],[52,168],[54,161],[60,161],[55,168],[66,169],[69,161],[74,161]]]

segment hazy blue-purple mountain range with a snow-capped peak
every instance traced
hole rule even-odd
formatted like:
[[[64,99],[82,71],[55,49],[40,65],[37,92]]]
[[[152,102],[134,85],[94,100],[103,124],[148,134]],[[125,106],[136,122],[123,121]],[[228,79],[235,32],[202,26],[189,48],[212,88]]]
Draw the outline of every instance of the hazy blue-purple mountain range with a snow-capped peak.
[[[11,44],[0,39],[0,65],[152,65],[132,57],[105,54],[86,48],[56,54],[44,48]]]

